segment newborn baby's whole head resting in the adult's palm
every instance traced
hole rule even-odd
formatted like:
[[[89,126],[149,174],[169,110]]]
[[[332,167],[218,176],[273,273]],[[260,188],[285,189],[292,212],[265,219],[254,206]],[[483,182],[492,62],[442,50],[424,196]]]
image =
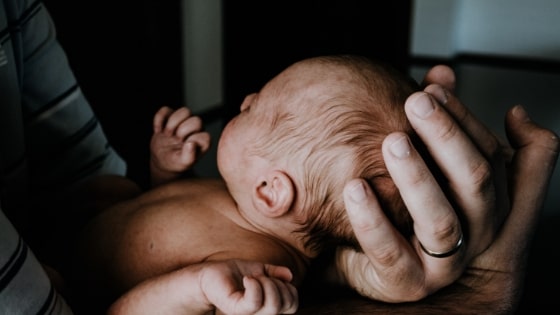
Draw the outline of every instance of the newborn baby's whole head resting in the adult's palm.
[[[417,90],[414,81],[391,67],[357,56],[317,57],[288,67],[248,96],[242,113],[224,129],[218,162],[232,196],[240,206],[255,206],[243,194],[257,188],[243,178],[275,169],[279,179],[261,176],[261,186],[291,186],[293,198],[280,206],[297,213],[298,232],[308,247],[357,246],[342,190],[348,180],[361,177],[408,236],[411,218],[387,172],[381,144],[394,131],[414,141],[404,103]],[[264,188],[271,200],[282,197]]]

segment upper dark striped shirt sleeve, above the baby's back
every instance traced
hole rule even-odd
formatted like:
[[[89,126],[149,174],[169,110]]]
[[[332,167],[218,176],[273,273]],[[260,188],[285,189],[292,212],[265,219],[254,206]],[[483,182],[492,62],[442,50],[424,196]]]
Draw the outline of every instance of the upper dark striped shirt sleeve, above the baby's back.
[[[126,164],[78,86],[46,8],[39,3],[25,12],[16,38],[23,48],[21,104],[32,187],[60,189],[93,175],[124,175]]]

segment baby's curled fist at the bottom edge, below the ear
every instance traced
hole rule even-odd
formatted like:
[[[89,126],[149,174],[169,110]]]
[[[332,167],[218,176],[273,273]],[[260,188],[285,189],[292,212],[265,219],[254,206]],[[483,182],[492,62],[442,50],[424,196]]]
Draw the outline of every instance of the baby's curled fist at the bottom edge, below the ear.
[[[200,285],[210,304],[225,314],[293,314],[299,306],[290,269],[255,261],[209,264]]]

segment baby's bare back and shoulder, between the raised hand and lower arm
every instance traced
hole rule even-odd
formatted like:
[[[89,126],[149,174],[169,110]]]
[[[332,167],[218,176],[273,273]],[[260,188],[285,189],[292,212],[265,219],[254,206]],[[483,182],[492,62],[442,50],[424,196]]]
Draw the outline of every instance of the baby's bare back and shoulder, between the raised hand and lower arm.
[[[177,181],[146,192],[103,211],[85,234],[90,281],[117,291],[211,260],[292,267],[279,241],[250,230],[219,180]]]

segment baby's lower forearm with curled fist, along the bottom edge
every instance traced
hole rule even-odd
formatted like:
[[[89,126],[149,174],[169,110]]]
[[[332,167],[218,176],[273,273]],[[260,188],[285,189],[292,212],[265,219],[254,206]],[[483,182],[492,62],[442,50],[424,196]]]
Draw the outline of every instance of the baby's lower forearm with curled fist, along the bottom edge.
[[[108,314],[292,314],[298,307],[286,267],[247,260],[191,265],[151,278]]]

